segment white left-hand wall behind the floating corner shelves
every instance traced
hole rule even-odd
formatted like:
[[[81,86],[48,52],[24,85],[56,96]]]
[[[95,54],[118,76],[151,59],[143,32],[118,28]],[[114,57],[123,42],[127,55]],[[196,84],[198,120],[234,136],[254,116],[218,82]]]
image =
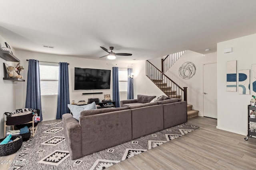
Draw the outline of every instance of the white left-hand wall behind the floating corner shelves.
[[[6,47],[5,43],[7,42],[2,36],[0,36],[0,47]],[[8,43],[9,44],[9,43]],[[9,44],[10,45],[10,44]],[[11,45],[10,45],[11,47]],[[11,47],[12,53],[15,54],[15,50]],[[8,80],[3,80],[4,77],[4,64],[6,63],[9,66],[16,66],[15,63],[10,61],[5,61],[0,58],[0,138],[4,137],[4,112],[12,112],[15,109],[15,93],[14,86],[20,84],[20,82],[12,82]],[[15,65],[14,65],[15,64]]]

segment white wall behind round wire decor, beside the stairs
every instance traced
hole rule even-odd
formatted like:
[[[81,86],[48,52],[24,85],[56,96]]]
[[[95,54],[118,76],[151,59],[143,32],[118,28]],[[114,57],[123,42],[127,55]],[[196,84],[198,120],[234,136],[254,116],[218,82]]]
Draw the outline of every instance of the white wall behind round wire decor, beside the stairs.
[[[203,64],[216,62],[217,54],[209,53],[205,56],[194,51],[187,50],[180,59],[166,72],[166,75],[174,80],[180,87],[188,87],[187,102],[198,110],[198,115],[203,116]],[[182,79],[179,76],[179,68],[185,62],[192,62],[196,66],[196,73],[190,79]]]

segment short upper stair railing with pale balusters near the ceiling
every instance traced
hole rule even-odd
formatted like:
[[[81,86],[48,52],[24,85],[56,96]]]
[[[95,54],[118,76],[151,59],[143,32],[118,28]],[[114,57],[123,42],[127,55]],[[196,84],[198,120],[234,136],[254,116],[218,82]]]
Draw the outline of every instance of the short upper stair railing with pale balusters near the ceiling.
[[[178,53],[167,55],[162,60],[162,72],[166,72],[171,66],[185,53],[186,51],[180,51]]]

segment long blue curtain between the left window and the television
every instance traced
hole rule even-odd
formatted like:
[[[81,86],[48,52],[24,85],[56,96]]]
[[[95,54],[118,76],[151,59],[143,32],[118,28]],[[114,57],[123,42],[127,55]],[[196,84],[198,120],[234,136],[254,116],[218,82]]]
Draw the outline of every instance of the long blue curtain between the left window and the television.
[[[59,83],[58,83],[58,106],[56,119],[62,119],[62,115],[70,113],[68,109],[69,85],[68,85],[68,63],[59,63]]]

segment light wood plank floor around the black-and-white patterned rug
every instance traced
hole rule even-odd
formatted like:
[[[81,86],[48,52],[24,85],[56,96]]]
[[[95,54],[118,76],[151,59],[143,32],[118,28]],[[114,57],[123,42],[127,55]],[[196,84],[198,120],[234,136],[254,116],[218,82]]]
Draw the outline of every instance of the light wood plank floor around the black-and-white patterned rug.
[[[55,120],[56,121],[56,120]],[[54,122],[46,121],[43,124]],[[200,128],[159,147],[122,161],[109,170],[256,170],[256,139],[216,129],[217,120],[188,119]],[[0,160],[12,160],[14,154]],[[0,164],[0,169],[8,166]]]

